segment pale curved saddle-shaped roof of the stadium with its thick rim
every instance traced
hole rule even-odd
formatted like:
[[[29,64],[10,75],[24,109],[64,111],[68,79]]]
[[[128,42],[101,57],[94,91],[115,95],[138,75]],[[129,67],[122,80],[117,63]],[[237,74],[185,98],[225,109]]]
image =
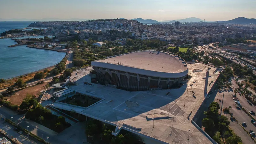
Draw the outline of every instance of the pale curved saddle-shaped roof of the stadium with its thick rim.
[[[187,63],[178,55],[167,51],[144,50],[129,52],[92,61],[91,65],[164,78],[178,78],[188,74]]]

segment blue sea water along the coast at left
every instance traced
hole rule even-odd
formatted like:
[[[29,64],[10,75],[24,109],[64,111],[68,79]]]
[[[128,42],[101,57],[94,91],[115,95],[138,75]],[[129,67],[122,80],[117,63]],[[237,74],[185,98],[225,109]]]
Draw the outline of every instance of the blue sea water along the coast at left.
[[[31,23],[33,21],[0,21],[0,33],[10,29],[26,28]],[[0,39],[0,78],[8,79],[53,66],[66,55],[65,52],[29,48],[26,45],[7,47],[12,44],[17,43],[11,38]]]

